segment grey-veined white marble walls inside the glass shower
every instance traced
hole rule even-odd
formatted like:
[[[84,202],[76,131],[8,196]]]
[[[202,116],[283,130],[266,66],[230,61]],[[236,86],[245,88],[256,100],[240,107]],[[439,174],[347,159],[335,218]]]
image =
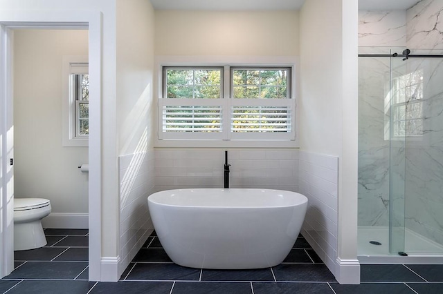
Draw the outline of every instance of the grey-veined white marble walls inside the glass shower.
[[[360,12],[359,46],[376,46],[361,47],[372,50],[370,53],[389,53],[390,47],[407,46],[413,54],[442,55],[443,50],[415,50],[443,49],[442,11],[443,0],[422,0],[408,10]],[[399,66],[405,74],[422,70],[423,99],[419,104],[423,130],[415,139],[389,142],[385,106],[389,59],[359,59],[359,226],[388,225],[391,160],[399,170],[391,170],[391,179],[398,184],[391,195],[397,208],[403,208],[399,204],[404,202],[406,188],[406,227],[443,244],[442,62],[409,59],[406,67]],[[405,164],[406,177],[401,175]],[[405,179],[406,186],[402,185]]]

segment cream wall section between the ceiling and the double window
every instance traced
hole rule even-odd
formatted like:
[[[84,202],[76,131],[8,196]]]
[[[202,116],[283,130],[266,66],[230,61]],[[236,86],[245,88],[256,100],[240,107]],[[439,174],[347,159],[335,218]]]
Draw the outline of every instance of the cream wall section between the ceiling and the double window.
[[[298,55],[298,12],[158,10],[156,55]]]

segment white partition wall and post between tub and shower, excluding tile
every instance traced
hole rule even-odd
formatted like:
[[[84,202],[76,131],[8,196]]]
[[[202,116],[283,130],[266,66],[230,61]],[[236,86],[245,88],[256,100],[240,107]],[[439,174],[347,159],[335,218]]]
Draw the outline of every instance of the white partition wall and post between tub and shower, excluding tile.
[[[342,284],[360,281],[356,259],[357,17],[357,2],[352,0],[309,0],[300,11],[300,149],[338,157],[337,256],[332,257],[335,266],[326,264]],[[317,222],[327,227],[327,211],[318,212]],[[327,252],[327,248],[322,250]]]

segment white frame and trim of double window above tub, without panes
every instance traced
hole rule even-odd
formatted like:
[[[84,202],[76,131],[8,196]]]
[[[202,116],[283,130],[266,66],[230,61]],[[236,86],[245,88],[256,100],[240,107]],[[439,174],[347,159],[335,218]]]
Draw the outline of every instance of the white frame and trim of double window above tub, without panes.
[[[156,90],[157,98],[154,99],[158,106],[156,147],[257,147],[257,148],[296,148],[297,140],[297,119],[296,115],[296,57],[156,57]],[[224,83],[224,97],[221,99],[189,99],[193,101],[186,102],[186,99],[164,99],[163,95],[163,67],[217,67],[224,66],[224,80],[230,81],[230,68],[291,68],[290,78],[290,98],[286,99],[233,99],[230,84]],[[199,101],[201,106],[221,106],[223,109],[224,128],[230,123],[230,110],[233,106],[273,106],[272,100],[279,100],[279,104],[289,107],[291,112],[291,133],[234,133],[222,132],[214,134],[199,133],[161,133],[162,111],[165,106],[165,100],[168,104],[196,105],[195,100]],[[174,101],[177,100],[177,101]],[[174,102],[173,102],[174,101]],[[226,135],[229,134],[229,137]]]

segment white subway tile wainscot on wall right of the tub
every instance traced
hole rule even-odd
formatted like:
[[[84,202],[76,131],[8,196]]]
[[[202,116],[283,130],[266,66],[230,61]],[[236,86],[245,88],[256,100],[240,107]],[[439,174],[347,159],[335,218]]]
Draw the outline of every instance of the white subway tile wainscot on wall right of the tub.
[[[300,151],[300,193],[308,198],[302,235],[335,275],[338,157]]]

